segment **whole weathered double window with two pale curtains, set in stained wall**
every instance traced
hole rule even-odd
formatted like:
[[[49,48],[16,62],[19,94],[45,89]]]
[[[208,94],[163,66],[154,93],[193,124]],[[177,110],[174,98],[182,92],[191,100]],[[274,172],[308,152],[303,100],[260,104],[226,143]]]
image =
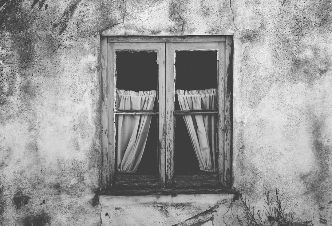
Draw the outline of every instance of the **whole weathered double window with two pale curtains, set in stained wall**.
[[[105,192],[229,190],[231,61],[231,36],[101,37]]]

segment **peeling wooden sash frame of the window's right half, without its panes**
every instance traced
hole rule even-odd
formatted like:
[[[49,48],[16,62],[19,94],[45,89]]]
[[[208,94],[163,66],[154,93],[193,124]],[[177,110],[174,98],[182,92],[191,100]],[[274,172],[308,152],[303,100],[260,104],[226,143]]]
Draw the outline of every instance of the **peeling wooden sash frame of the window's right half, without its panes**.
[[[225,153],[224,153],[224,114],[225,114],[225,42],[190,42],[190,43],[166,43],[166,186],[174,187],[176,185],[195,186],[195,180],[183,181],[183,175],[174,175],[174,115],[195,114],[195,113],[215,113],[215,111],[174,111],[174,92],[175,92],[175,51],[178,50],[217,50],[217,184],[225,186]],[[206,178],[207,183],[214,183],[213,176],[195,175],[197,178]],[[182,178],[182,179],[181,179]],[[188,177],[190,178],[190,177]],[[201,180],[201,179],[199,179]],[[204,180],[203,180],[204,181]]]

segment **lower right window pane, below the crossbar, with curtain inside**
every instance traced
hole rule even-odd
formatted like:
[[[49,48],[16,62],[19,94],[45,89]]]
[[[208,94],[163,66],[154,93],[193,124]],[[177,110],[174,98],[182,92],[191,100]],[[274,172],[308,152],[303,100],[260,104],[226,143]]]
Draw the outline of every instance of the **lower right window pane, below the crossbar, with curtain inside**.
[[[175,174],[215,172],[216,115],[175,116]]]

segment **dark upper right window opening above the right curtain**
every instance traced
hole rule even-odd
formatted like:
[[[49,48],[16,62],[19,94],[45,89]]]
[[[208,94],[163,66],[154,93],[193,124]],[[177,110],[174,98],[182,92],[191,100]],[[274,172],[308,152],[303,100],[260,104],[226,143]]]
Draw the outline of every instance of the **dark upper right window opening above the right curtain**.
[[[176,51],[175,70],[176,90],[217,88],[216,51]],[[181,110],[177,95],[175,95],[175,110]]]

